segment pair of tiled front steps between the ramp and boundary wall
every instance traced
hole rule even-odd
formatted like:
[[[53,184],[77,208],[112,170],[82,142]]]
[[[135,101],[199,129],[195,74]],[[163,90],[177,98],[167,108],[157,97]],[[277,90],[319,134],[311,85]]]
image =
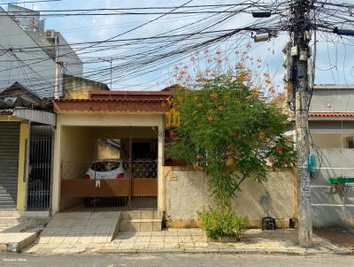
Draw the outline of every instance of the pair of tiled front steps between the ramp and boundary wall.
[[[121,232],[152,232],[161,231],[162,218],[158,218],[158,211],[134,210],[122,212],[119,224]]]

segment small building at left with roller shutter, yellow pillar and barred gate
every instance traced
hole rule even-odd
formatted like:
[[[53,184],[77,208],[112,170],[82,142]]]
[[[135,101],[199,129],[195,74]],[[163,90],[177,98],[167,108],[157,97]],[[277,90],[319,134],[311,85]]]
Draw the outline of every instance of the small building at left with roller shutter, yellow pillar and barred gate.
[[[0,93],[0,210],[50,211],[51,109],[18,82]]]

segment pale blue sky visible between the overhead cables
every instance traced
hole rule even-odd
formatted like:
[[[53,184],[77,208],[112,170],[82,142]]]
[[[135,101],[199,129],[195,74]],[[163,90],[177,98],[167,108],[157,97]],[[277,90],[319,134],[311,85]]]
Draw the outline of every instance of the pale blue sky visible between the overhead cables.
[[[0,3],[9,1],[0,1]],[[13,1],[13,2],[16,2]],[[23,2],[23,0],[19,0]],[[187,0],[63,0],[60,2],[35,3],[35,4],[19,4],[34,10],[59,10],[59,9],[92,9],[92,8],[122,8],[122,7],[150,7],[150,6],[178,6],[185,4]],[[241,0],[194,0],[189,4],[235,4]],[[6,9],[6,7],[4,6]],[[55,29],[65,36],[67,42],[92,42],[101,41],[111,38],[114,35],[124,33],[143,22],[154,19],[158,15],[132,15],[132,16],[81,16],[81,17],[64,17],[64,18],[47,18],[46,28]],[[148,37],[161,34],[172,28],[181,27],[183,25],[193,25],[198,16],[175,15],[159,19],[155,23],[142,27],[129,34],[124,34],[124,38]],[[242,27],[250,23],[252,18],[249,14],[240,14],[235,19],[230,19],[220,28]],[[281,34],[270,42],[253,43],[250,33],[246,34],[247,42],[252,43],[250,55],[252,57],[261,57],[263,60],[263,68],[271,74],[274,83],[278,88],[282,88],[282,47],[288,40],[287,34]],[[237,40],[237,36],[235,39]],[[354,57],[350,57],[354,53],[354,47],[343,44],[341,38],[337,36],[331,37],[327,42],[327,36],[318,34],[319,43],[317,47],[316,58],[316,84],[353,84],[354,83]],[[354,38],[354,37],[353,37]],[[220,43],[219,48],[226,50],[229,43]],[[119,48],[119,52],[125,51],[125,48]],[[83,61],[95,57],[110,57],[117,51],[100,52],[85,55]],[[231,56],[232,57],[232,56]],[[187,60],[187,59],[186,59]],[[181,60],[180,63],[183,63]],[[176,65],[178,63],[174,63]],[[109,67],[109,62],[102,62],[96,65],[84,65],[84,70],[89,72],[93,69]],[[112,65],[119,65],[119,62],[113,62]],[[137,77],[128,77],[124,80],[115,80],[112,88],[114,89],[135,89],[135,90],[158,90],[165,88],[172,81],[173,65],[165,67],[165,69],[156,72],[150,72]],[[109,77],[108,77],[109,78]],[[109,82],[108,82],[109,83]]]

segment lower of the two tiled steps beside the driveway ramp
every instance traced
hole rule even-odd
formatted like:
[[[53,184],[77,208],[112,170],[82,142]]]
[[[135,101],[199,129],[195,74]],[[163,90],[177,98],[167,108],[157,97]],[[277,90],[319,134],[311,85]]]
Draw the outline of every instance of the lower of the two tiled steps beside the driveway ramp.
[[[161,229],[162,229],[161,218],[122,219],[119,224],[120,232],[152,232],[152,231],[161,231]]]

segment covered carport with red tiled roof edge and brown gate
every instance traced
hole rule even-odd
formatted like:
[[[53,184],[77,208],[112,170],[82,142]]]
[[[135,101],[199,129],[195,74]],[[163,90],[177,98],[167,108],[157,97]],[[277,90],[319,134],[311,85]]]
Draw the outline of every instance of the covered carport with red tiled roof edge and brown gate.
[[[53,211],[88,199],[94,206],[162,210],[169,97],[169,92],[99,91],[85,100],[56,100]],[[92,164],[104,159],[119,159],[124,179],[85,179]]]

